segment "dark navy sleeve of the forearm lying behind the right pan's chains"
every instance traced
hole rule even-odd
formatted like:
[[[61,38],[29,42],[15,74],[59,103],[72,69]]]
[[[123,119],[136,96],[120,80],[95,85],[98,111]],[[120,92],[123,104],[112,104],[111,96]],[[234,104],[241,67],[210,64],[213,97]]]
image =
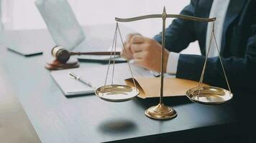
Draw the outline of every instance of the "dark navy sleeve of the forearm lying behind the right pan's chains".
[[[251,26],[252,35],[247,39],[247,47],[243,58],[231,56],[221,58],[227,79],[232,89],[252,89],[256,82],[256,24]],[[203,69],[205,56],[180,54],[176,77],[198,81]],[[216,87],[227,84],[221,69],[219,57],[207,60],[204,82]]]

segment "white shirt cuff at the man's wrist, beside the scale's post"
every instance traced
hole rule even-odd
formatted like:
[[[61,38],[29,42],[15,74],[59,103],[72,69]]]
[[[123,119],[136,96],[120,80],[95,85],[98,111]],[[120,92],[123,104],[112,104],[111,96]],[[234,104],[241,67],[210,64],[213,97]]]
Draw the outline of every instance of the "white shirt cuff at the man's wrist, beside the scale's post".
[[[166,72],[168,74],[176,74],[178,67],[178,58],[180,54],[170,51],[166,66]]]

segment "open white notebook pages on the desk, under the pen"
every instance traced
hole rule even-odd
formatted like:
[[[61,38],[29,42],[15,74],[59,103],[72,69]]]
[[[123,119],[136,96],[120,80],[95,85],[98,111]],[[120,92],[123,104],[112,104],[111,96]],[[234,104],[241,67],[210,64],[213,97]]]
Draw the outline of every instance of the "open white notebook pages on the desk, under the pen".
[[[134,76],[140,77],[154,77],[153,74],[138,66],[131,65]],[[64,69],[60,71],[51,71],[51,76],[55,80],[60,90],[63,92],[65,97],[77,97],[83,95],[94,94],[96,88],[104,86],[106,79],[106,71],[108,65],[95,65],[88,64],[78,69]],[[129,72],[129,66],[126,63],[115,64],[114,69],[114,84],[126,84],[124,79],[129,79],[132,75]],[[69,76],[69,73],[76,74],[84,82],[90,82],[92,87],[89,87],[83,82],[80,82]],[[106,84],[111,83],[112,76],[112,65],[109,68],[109,76]]]

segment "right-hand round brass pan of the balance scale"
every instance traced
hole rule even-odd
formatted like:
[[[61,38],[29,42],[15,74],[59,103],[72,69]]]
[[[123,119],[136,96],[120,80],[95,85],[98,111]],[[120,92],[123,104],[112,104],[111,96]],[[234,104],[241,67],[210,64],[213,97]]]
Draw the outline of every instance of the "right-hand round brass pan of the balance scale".
[[[198,92],[199,88],[194,87],[188,89],[186,95],[192,102],[209,105],[222,104],[233,97],[232,92],[219,87],[201,87],[200,94]]]

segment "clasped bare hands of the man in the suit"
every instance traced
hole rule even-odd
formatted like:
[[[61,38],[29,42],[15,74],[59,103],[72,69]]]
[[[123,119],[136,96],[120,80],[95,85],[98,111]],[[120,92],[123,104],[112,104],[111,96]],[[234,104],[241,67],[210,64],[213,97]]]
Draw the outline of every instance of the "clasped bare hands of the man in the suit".
[[[139,34],[127,36],[125,48],[121,52],[122,57],[132,59],[134,64],[150,69],[161,71],[162,46],[155,40]],[[166,72],[169,51],[164,49],[163,71]]]

